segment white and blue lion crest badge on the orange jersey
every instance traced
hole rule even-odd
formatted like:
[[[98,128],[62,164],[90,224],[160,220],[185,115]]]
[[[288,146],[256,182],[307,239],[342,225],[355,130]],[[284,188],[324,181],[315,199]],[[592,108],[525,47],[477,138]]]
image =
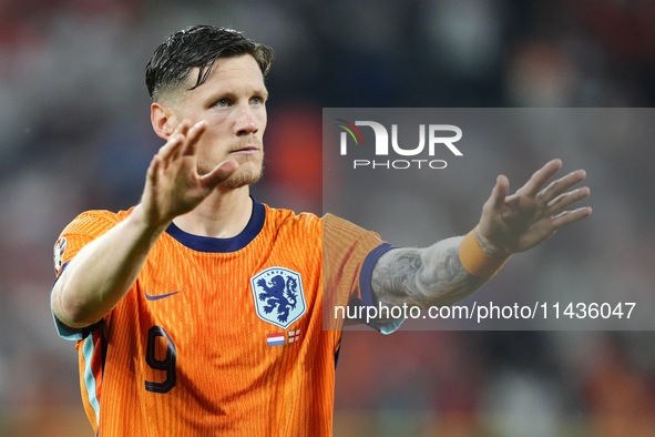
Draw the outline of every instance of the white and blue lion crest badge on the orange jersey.
[[[298,272],[270,267],[250,278],[255,308],[264,322],[286,328],[305,314],[307,304]]]

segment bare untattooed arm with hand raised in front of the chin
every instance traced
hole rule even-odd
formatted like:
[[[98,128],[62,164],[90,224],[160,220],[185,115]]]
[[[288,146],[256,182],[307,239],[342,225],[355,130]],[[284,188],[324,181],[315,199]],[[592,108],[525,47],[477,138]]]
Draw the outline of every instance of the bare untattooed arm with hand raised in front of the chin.
[[[52,289],[57,318],[70,327],[100,321],[130,291],[150,251],[177,215],[196,207],[238,166],[218,164],[199,176],[196,144],[204,122],[182,122],[147,169],[141,203],[124,221],[86,244],[69,262]]]

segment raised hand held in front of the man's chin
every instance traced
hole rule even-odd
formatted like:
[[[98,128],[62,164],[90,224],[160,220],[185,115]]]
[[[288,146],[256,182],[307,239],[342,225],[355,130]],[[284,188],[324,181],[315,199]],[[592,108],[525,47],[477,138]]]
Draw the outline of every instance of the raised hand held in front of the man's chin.
[[[204,121],[191,126],[184,120],[153,157],[141,199],[147,224],[164,225],[192,211],[238,167],[236,161],[227,160],[198,175],[196,149],[205,129]]]

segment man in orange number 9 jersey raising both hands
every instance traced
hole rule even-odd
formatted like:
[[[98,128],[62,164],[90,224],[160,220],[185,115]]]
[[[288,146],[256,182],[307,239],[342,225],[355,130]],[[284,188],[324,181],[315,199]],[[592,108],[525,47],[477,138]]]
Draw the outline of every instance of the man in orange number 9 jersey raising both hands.
[[[78,342],[99,436],[329,436],[340,331],[324,331],[324,288],[340,304],[448,305],[591,213],[555,215],[589,195],[569,192],[584,171],[545,186],[559,160],[511,196],[499,176],[477,230],[422,250],[270,209],[248,185],[262,174],[272,60],[232,30],[172,34],[146,70],[166,143],[141,203],[83,213],[55,245],[52,311]]]

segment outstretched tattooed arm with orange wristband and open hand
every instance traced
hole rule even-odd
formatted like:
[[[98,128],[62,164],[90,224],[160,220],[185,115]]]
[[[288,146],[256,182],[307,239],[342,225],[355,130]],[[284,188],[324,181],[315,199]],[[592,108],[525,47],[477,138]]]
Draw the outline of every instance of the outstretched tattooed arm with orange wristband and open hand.
[[[377,299],[382,305],[421,308],[453,304],[480,288],[512,254],[528,251],[560,227],[589,216],[589,206],[564,211],[590,195],[589,187],[570,191],[586,177],[583,170],[547,184],[561,167],[560,160],[549,162],[512,195],[508,195],[508,179],[498,176],[480,224],[467,236],[385,253],[371,276]]]

